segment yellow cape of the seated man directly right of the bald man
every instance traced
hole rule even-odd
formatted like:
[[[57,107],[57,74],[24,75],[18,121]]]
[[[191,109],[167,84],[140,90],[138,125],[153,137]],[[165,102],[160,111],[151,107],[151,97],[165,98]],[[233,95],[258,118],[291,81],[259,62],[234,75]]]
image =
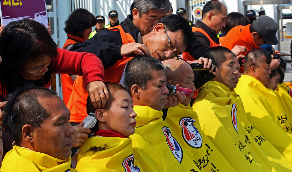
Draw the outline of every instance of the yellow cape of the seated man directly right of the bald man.
[[[231,91],[224,84],[209,81],[203,85],[193,109],[197,112],[202,131],[230,164],[238,160],[239,164],[233,165],[235,170],[277,171],[242,124],[237,122],[237,112],[244,109],[237,109]],[[253,170],[246,169],[250,167]]]

